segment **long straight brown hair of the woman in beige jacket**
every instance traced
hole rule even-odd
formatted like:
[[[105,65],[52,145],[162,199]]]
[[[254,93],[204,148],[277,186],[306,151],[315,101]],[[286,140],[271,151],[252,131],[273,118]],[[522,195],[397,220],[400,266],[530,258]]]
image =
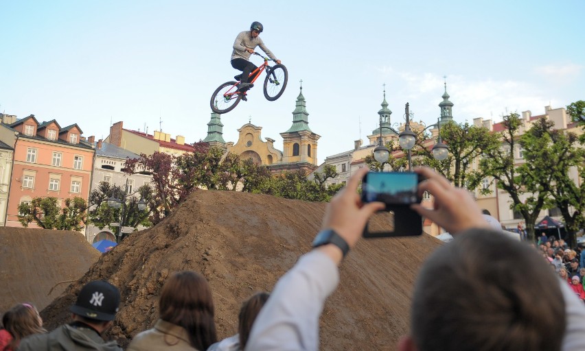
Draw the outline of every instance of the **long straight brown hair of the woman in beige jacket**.
[[[159,314],[163,321],[185,328],[191,346],[197,350],[207,350],[217,341],[211,289],[194,271],[176,272],[165,282]]]

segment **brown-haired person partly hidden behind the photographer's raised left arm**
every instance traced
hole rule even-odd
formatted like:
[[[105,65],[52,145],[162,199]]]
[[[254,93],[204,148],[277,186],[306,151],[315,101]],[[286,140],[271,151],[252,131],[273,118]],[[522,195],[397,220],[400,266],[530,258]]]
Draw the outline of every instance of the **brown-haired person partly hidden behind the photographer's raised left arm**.
[[[209,346],[207,351],[242,351],[246,348],[254,320],[268,300],[268,293],[255,293],[244,301],[238,315],[238,334]]]

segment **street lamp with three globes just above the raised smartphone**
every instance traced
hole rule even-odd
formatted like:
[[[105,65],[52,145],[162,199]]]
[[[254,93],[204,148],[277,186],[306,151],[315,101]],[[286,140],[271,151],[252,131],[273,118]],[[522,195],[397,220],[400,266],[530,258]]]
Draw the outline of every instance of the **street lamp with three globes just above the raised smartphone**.
[[[406,158],[409,161],[409,171],[412,171],[413,165],[412,165],[412,157],[411,157],[411,149],[415,146],[416,144],[416,138],[417,136],[419,136],[420,134],[422,134],[425,130],[427,130],[428,128],[431,127],[437,127],[439,135],[437,138],[437,143],[433,146],[433,157],[435,158],[435,160],[444,160],[447,156],[448,156],[448,152],[449,152],[449,148],[447,145],[445,145],[444,143],[441,142],[441,126],[439,125],[439,119],[437,118],[437,123],[436,124],[431,124],[426,126],[422,131],[418,132],[417,134],[415,134],[412,130],[411,130],[411,120],[410,120],[410,111],[409,111],[409,103],[406,103],[406,106],[404,108],[405,112],[406,112],[406,123],[404,124],[404,130],[402,130],[402,132],[400,132],[400,134],[398,134],[398,143],[400,144],[400,147],[402,147],[402,149],[406,150]],[[382,127],[382,117],[380,116],[380,138],[378,140],[378,146],[376,147],[376,149],[374,149],[374,159],[376,159],[376,161],[382,163],[382,162],[386,162],[390,156],[390,152],[389,150],[382,145],[382,128],[388,128],[388,127]],[[392,128],[388,128],[390,130],[393,130]]]

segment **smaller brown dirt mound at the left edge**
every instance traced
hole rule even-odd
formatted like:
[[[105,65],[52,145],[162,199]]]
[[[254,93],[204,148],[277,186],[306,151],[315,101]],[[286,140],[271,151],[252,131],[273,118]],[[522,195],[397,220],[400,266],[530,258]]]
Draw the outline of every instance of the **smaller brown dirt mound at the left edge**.
[[[18,302],[45,308],[99,256],[78,232],[0,227],[0,314]]]

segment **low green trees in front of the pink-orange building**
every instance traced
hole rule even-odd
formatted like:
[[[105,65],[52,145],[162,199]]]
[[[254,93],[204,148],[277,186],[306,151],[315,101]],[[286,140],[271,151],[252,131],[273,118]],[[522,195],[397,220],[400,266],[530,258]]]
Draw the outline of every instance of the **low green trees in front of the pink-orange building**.
[[[87,203],[81,197],[65,199],[60,208],[56,197],[34,197],[30,203],[19,205],[19,222],[28,227],[31,222],[43,229],[82,230],[86,223]]]

